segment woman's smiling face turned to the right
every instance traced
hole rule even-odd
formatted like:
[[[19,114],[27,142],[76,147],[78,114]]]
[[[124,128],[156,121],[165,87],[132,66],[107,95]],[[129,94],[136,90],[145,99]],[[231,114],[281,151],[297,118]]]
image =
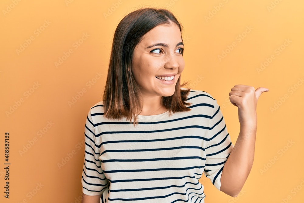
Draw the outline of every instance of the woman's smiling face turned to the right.
[[[181,31],[175,23],[159,25],[143,35],[136,45],[132,59],[132,73],[145,96],[171,96],[185,61],[181,54]],[[169,75],[161,80],[156,76]]]

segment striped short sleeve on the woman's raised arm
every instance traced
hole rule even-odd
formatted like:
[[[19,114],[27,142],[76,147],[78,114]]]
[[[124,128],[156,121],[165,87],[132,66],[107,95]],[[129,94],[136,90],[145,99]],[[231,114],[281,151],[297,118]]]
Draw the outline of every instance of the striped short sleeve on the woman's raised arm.
[[[224,164],[234,145],[230,140],[223,114],[216,100],[209,125],[209,136],[206,144],[206,164],[204,174],[219,190]]]

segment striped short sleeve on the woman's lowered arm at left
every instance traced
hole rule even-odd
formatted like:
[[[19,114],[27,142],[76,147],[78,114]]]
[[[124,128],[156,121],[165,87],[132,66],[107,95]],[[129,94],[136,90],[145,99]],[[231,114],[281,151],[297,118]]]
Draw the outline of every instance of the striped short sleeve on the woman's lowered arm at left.
[[[85,122],[85,158],[82,170],[82,192],[86,195],[99,195],[108,190],[108,180],[101,169],[99,143],[95,137],[95,128],[89,110]]]

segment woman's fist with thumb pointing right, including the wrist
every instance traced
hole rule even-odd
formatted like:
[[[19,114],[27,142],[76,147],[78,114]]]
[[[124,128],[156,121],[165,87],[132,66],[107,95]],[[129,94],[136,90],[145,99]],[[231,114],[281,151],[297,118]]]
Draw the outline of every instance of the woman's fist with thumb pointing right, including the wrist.
[[[230,102],[237,107],[240,125],[257,124],[257,100],[263,92],[269,89],[259,87],[254,89],[252,86],[235,85],[229,93]]]

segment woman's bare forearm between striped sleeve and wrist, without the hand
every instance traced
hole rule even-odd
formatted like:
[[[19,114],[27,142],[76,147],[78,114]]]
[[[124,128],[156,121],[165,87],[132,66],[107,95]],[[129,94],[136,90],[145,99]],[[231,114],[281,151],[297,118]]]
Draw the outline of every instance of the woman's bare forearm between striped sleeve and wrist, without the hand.
[[[240,126],[240,133],[226,163],[224,164],[220,191],[236,197],[250,173],[254,160],[257,124]]]

